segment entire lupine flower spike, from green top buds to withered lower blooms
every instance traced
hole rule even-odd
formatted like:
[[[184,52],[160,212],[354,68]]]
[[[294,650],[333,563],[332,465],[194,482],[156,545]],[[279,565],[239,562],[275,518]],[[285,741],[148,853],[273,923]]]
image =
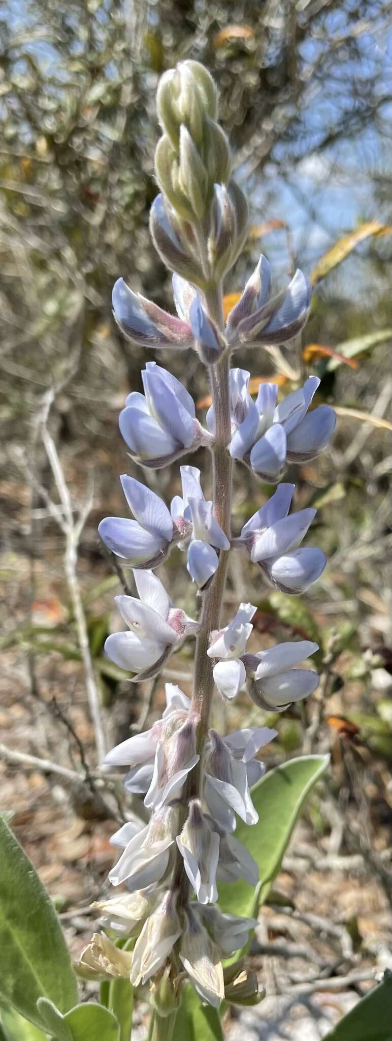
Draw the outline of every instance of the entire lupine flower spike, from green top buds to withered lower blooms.
[[[116,598],[128,629],[108,637],[109,658],[139,681],[156,676],[187,637],[194,636],[197,644],[192,697],[166,684],[162,718],[106,757],[107,764],[127,767],[125,787],[143,796],[151,817],[146,827],[130,821],[113,835],[122,852],[109,878],[126,889],[98,907],[106,926],[136,937],[132,955],[122,953],[120,967],[112,956],[111,974],[121,974],[126,964],[134,985],[151,981],[153,1004],[163,1015],[176,1007],[184,976],[214,1006],[225,996],[238,1004],[258,999],[257,981],[243,960],[223,968],[223,959],[246,943],[255,922],[224,914],[216,906],[217,885],[258,882],[256,862],[235,837],[236,817],[257,822],[252,786],[264,771],[258,754],[276,731],[259,727],[220,736],[210,723],[212,693],[215,686],[233,699],[246,687],[262,709],[282,712],[317,686],[316,672],[297,667],[317,644],[299,640],[247,652],[256,608],[246,603],[221,628],[227,560],[231,549],[241,551],[269,585],[295,594],[316,581],[325,558],[302,544],[316,511],[290,512],[294,486],[288,483],[278,484],[233,538],[231,468],[240,460],[265,480],[279,481],[287,463],[313,458],[328,445],[335,413],[328,405],[310,408],[319,383],[315,377],[280,403],[276,384],[264,383],[254,401],[250,373],[230,369],[236,348],[286,344],[297,335],[307,321],[310,286],[297,271],[288,287],[271,297],[269,264],[261,257],[224,325],[221,280],[243,245],[247,207],[230,179],[216,88],[202,66],[184,61],[162,77],[157,105],[161,194],[152,206],[151,231],[174,272],[177,315],[119,279],[114,316],[125,335],[146,348],[195,350],[208,366],[212,405],[204,428],[183,384],[148,361],[143,393],[129,395],[120,428],[142,466],[163,466],[207,447],[213,494],[206,500],[201,473],[188,463],[180,466],[181,496],[169,505],[142,482],[123,476],[131,516],[100,524],[103,541],[134,569],[138,593]],[[172,603],[154,574],[173,545],[186,553],[202,602],[198,619]],[[82,959],[86,971],[104,961],[110,975],[108,944],[107,938],[95,939]]]

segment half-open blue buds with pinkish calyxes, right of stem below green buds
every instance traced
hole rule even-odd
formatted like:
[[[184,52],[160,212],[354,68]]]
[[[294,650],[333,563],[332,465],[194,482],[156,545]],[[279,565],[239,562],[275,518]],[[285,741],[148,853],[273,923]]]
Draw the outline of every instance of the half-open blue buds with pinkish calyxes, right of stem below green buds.
[[[270,281],[269,263],[261,256],[228,318],[226,336],[232,349],[246,344],[285,344],[305,326],[312,289],[303,272],[297,270],[287,288],[271,300]]]

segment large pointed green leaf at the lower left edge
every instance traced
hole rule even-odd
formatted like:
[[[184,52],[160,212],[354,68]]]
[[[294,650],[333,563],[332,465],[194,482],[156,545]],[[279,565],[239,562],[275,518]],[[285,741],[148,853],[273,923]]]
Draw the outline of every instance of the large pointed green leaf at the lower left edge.
[[[32,864],[0,820],[0,999],[42,1025],[38,997],[67,1012],[76,976],[56,912]]]

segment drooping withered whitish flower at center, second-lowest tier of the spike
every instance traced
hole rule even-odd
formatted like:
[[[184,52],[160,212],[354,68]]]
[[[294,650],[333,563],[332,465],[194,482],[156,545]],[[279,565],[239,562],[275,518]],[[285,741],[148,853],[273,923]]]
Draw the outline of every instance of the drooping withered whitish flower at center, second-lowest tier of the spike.
[[[177,838],[184,868],[200,904],[217,900],[216,868],[219,836],[205,817],[200,799],[189,803],[188,816]]]

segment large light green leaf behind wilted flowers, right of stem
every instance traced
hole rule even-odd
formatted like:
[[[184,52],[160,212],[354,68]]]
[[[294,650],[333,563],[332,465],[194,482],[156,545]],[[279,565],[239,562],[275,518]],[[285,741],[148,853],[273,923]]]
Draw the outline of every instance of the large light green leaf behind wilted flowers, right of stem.
[[[329,756],[302,756],[269,770],[252,789],[259,821],[238,822],[235,837],[243,842],[260,869],[256,890],[242,880],[219,886],[225,912],[250,916],[264,903],[282,864],[295,821],[313,785],[326,769]]]

